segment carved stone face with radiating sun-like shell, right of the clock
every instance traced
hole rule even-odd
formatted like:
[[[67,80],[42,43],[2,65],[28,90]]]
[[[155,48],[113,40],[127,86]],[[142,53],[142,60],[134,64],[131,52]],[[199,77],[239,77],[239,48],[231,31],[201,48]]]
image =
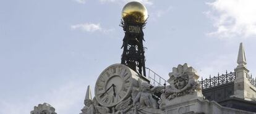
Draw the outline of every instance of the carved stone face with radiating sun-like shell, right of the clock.
[[[185,96],[186,94],[194,94],[195,91],[201,90],[198,83],[198,75],[194,68],[189,67],[187,63],[178,65],[173,68],[173,72],[169,73],[168,83],[161,99],[172,100],[176,97]]]

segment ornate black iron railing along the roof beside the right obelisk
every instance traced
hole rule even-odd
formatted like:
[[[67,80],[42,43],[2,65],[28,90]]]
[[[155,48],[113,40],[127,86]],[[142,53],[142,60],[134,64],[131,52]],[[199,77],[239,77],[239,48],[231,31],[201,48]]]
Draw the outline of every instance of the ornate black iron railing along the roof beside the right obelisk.
[[[209,79],[206,78],[203,80],[203,77],[202,77],[202,81],[199,81],[199,83],[201,84],[202,89],[207,89],[207,88],[219,86],[221,84],[231,83],[235,79],[236,79],[235,72],[228,73],[228,71],[226,71],[226,74],[220,75],[218,73],[218,76],[213,76],[213,77],[211,77],[211,75],[210,75]]]

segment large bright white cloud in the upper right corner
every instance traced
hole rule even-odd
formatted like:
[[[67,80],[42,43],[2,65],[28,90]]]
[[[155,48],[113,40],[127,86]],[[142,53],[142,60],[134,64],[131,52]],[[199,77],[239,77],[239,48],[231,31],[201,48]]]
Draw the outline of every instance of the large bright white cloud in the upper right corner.
[[[205,14],[213,20],[216,28],[207,35],[219,38],[256,35],[255,0],[216,0],[207,4],[211,10]]]

